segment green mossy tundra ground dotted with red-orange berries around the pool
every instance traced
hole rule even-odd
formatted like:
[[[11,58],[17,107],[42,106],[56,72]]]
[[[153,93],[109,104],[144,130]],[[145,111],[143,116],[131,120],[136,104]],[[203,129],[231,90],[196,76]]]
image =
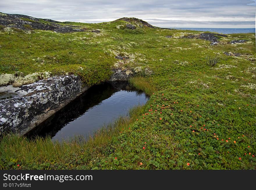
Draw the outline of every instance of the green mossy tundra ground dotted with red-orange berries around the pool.
[[[255,34],[228,35],[211,46],[210,41],[179,38],[197,31],[129,30],[122,20],[61,24],[101,32],[1,29],[0,73],[68,72],[93,85],[107,80],[114,65],[140,66],[152,75],[142,73],[131,83],[150,99],[131,110],[131,118],[120,118],[89,142],[53,144],[49,138],[6,135],[0,144],[1,169],[256,168],[256,62],[248,60],[256,58]],[[249,41],[228,43],[234,39]],[[207,55],[220,60],[208,66]]]

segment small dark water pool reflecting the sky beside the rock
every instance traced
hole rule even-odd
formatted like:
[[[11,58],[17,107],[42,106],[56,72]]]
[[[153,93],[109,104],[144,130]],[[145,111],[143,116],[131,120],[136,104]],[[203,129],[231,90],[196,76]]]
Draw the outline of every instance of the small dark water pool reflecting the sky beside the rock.
[[[143,105],[147,99],[145,93],[136,91],[128,82],[96,85],[26,135],[49,135],[53,141],[81,135],[86,139],[118,117],[128,116],[131,107]]]

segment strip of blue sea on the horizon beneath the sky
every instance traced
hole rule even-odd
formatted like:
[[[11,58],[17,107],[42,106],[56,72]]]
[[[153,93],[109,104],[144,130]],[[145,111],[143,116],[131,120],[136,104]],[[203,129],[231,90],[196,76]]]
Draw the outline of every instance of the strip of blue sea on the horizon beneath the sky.
[[[255,33],[255,28],[170,28],[177,30],[195,30],[202,32],[217,32],[220,34]]]

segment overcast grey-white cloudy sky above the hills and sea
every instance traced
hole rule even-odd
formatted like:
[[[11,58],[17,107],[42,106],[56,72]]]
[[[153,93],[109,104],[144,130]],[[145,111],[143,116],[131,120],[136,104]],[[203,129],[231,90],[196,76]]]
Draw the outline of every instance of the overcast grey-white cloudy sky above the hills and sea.
[[[99,23],[136,17],[168,28],[255,28],[251,0],[1,0],[0,12]]]

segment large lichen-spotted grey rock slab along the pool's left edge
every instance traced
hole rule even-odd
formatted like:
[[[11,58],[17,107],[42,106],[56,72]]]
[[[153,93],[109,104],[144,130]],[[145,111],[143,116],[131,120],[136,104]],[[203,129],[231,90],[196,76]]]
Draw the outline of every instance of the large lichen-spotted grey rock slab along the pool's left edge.
[[[5,93],[5,99],[0,100],[0,132],[24,135],[88,88],[75,75],[52,77],[16,88],[1,87],[0,94]]]

